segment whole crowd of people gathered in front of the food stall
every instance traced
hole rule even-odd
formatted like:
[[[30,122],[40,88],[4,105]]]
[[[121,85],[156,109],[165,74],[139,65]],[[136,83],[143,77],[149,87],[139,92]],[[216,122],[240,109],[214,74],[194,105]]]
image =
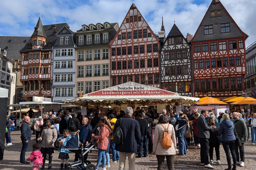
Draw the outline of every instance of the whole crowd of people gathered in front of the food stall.
[[[38,170],[39,165],[44,169],[45,163],[49,162],[47,169],[51,169],[52,154],[54,150],[59,150],[60,169],[67,169],[69,150],[65,149],[65,145],[76,134],[79,135],[79,140],[84,146],[89,145],[93,140],[97,141],[95,145],[98,148],[98,160],[95,165],[97,169],[106,169],[110,167],[111,162],[119,162],[119,169],[125,169],[126,159],[129,161],[129,169],[135,169],[135,158],[155,154],[157,169],[164,168],[166,158],[168,169],[173,170],[174,156],[186,155],[189,145],[195,145],[195,149],[200,148],[201,165],[213,169],[211,165],[214,162],[213,151],[215,149],[215,163],[220,164],[222,143],[228,162],[226,170],[235,170],[237,165],[244,166],[244,143],[251,138],[253,145],[255,144],[256,113],[251,115],[250,111],[244,113],[242,109],[241,113],[225,111],[219,113],[217,117],[212,110],[204,109],[200,113],[197,109],[188,109],[185,113],[176,113],[173,109],[167,113],[166,109],[163,109],[161,114],[157,114],[154,110],[149,107],[148,111],[143,111],[137,107],[134,112],[132,107],[127,107],[118,114],[107,109],[106,112],[95,112],[84,117],[76,113],[50,111],[36,117],[30,109],[23,116],[20,126],[22,142],[20,164],[33,162],[31,166],[34,170]],[[12,145],[10,134],[14,123],[13,115],[11,116],[6,117],[6,145]],[[36,143],[33,145],[30,158],[25,159],[32,134],[29,126],[31,117],[34,117],[32,131],[36,135]],[[156,118],[158,121],[154,121]],[[122,142],[117,143],[114,134],[120,128],[123,137]],[[171,142],[167,147],[163,146],[162,142],[166,133],[170,136],[169,142]],[[230,153],[233,158],[233,168]],[[75,154],[74,162],[79,159],[81,156]],[[87,154],[84,155],[85,160]]]

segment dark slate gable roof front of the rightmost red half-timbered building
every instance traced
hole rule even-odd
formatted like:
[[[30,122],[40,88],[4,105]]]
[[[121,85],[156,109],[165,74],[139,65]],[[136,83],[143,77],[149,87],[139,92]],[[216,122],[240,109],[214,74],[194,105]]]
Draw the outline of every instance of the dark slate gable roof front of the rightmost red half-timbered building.
[[[211,13],[215,12],[215,16],[212,17]],[[221,12],[221,16],[218,16],[217,11]],[[230,32],[221,33],[221,24],[229,23]],[[212,25],[213,34],[205,35],[204,27]],[[200,23],[195,36],[191,42],[195,41],[209,41],[218,39],[230,39],[230,38],[247,38],[248,36],[238,27],[226,8],[221,4],[219,0],[213,0],[208,10],[206,11],[202,22]]]

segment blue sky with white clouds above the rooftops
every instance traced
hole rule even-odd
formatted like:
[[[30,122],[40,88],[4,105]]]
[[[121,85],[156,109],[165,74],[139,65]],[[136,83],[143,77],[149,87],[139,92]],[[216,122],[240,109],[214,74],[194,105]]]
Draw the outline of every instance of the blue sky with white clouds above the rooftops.
[[[220,0],[237,25],[249,35],[248,47],[256,41],[256,1]],[[162,16],[166,36],[174,21],[182,34],[195,35],[212,0],[134,0],[154,31],[160,31]],[[68,22],[74,32],[83,24],[114,23],[120,26],[132,0],[8,0],[1,2],[0,36],[31,36],[41,13],[43,25]]]

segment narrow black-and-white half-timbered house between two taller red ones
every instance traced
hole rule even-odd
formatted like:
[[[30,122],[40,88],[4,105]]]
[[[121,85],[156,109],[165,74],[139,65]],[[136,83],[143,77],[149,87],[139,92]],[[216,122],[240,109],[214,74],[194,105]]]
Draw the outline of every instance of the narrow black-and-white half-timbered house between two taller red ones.
[[[193,96],[191,47],[174,23],[160,50],[161,88]]]

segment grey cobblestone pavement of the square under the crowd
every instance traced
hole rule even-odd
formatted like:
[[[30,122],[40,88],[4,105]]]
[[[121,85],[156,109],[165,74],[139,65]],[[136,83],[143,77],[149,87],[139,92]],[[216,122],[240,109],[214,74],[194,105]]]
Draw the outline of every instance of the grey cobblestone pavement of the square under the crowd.
[[[12,169],[32,169],[29,165],[20,165],[19,158],[20,158],[20,151],[21,151],[21,140],[20,140],[20,131],[14,130],[11,132],[12,138],[12,146],[6,146],[4,150],[4,159],[0,160],[0,169],[1,170],[12,170]],[[30,156],[32,151],[32,145],[35,143],[35,135],[32,135],[31,141],[29,143],[28,150],[26,152],[26,158]],[[96,164],[97,162],[97,151],[93,150],[91,154],[88,155],[88,159],[92,162],[92,164]],[[185,156],[175,156],[175,169],[206,169],[203,166],[200,166],[200,156],[199,156],[200,149],[195,149],[194,146],[189,146],[188,154]],[[215,169],[225,169],[227,168],[227,160],[226,154],[223,150],[223,147],[220,146],[220,155],[221,155],[221,164],[214,163],[212,164]],[[53,162],[52,162],[52,169],[59,169],[60,168],[60,159],[58,159],[59,151],[53,154]],[[75,154],[70,152],[69,154],[70,159],[69,162],[74,160]],[[214,152],[215,158],[215,152]],[[111,160],[111,154],[110,154]],[[157,160],[155,155],[149,155],[147,158],[136,158],[136,169],[157,169]],[[118,163],[110,163],[110,167],[107,169],[118,169]],[[128,162],[126,160],[126,165]],[[48,164],[46,163],[47,169]],[[77,169],[77,168],[73,168]],[[129,169],[127,166],[125,169]],[[165,166],[164,169],[167,169]],[[245,143],[245,166],[239,167],[237,169],[256,169],[256,146],[252,145],[251,142]]]

